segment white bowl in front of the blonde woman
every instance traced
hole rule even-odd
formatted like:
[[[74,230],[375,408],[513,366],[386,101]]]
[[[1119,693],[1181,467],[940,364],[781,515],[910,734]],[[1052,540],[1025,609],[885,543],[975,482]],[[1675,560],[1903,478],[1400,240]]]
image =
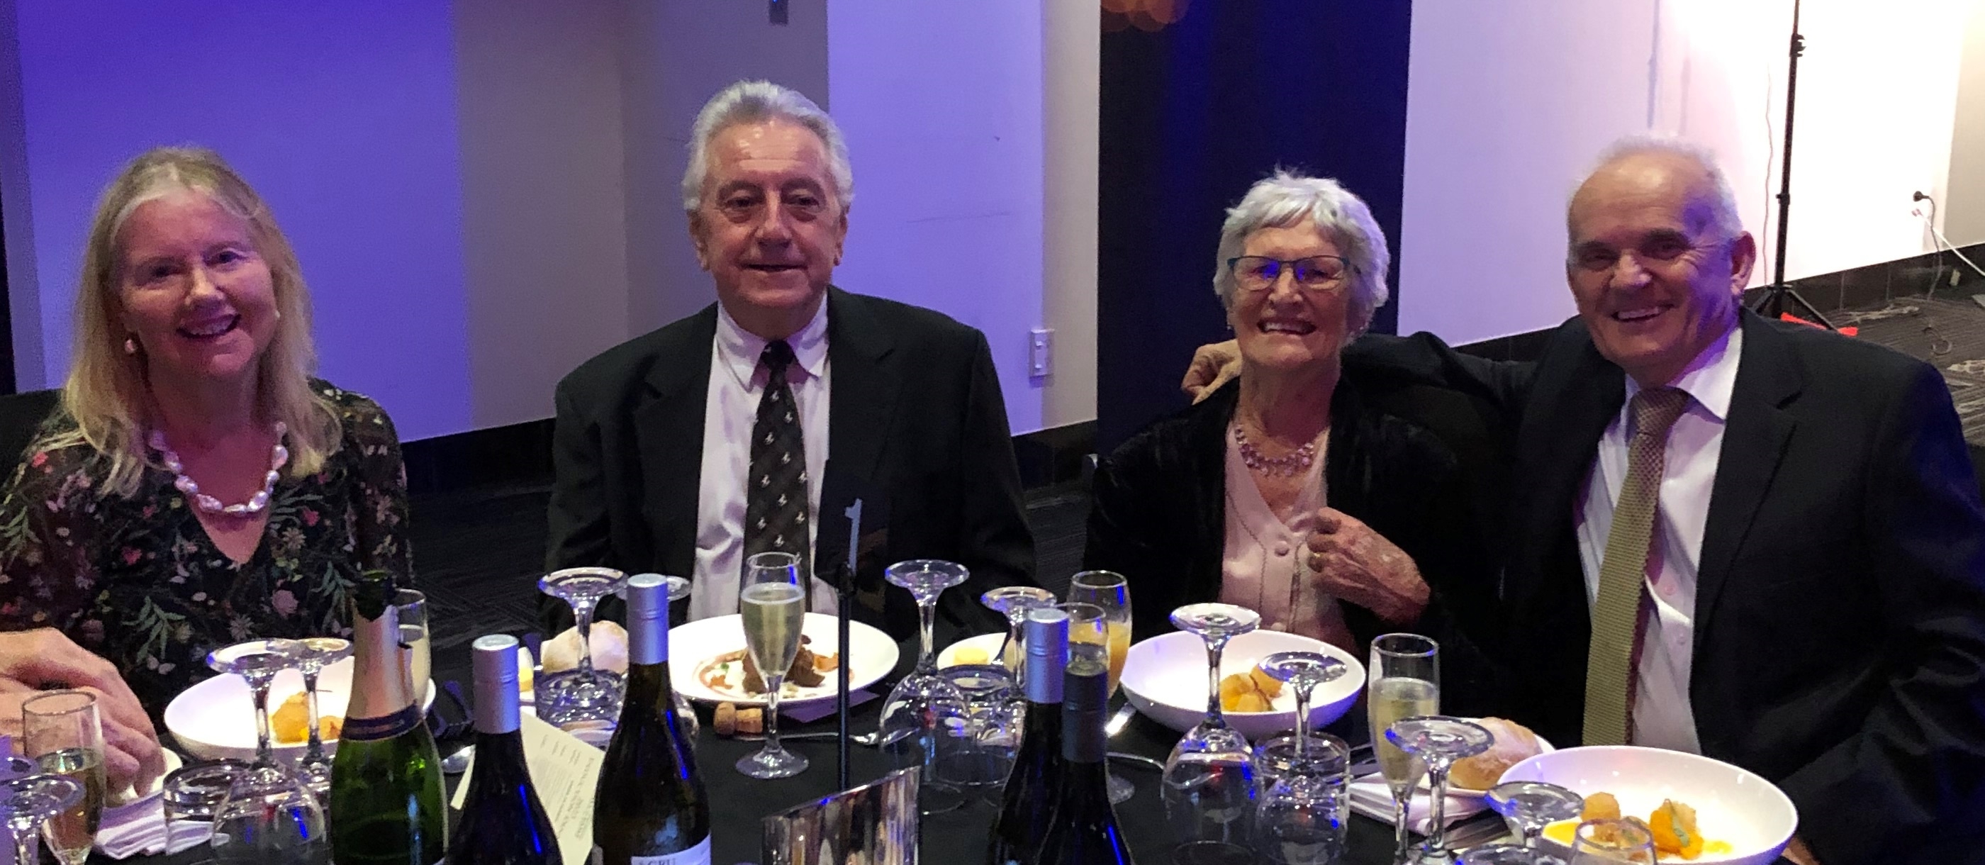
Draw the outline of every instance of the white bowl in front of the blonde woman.
[[[324,669],[318,675],[318,714],[345,716],[345,702],[351,700],[351,665],[347,657]],[[274,716],[282,700],[290,694],[304,692],[304,675],[298,671],[282,671],[268,688],[268,712]],[[421,706],[435,704],[435,682],[427,682],[427,694]],[[187,690],[181,690],[171,704],[165,706],[165,728],[173,732],[179,746],[187,754],[200,760],[254,760],[254,694],[248,690],[248,680],[236,675],[220,675],[208,680],[197,682]],[[310,746],[306,742],[298,744],[276,744],[276,758],[296,760],[302,758]],[[324,754],[335,754],[337,740],[324,740]]]

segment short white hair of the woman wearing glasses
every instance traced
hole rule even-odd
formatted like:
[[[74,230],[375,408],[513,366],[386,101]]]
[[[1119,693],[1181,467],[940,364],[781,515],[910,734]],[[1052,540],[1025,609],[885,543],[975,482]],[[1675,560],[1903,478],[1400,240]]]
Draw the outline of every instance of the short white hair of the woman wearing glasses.
[[[1274,175],[1249,186],[1241,204],[1227,208],[1213,264],[1213,294],[1221,298],[1221,308],[1233,309],[1237,284],[1227,260],[1241,254],[1251,234],[1262,228],[1292,228],[1302,220],[1332,238],[1350,264],[1350,335],[1356,337],[1372,325],[1372,313],[1386,306],[1391,250],[1386,248],[1386,230],[1372,218],[1364,198],[1328,177],[1276,169]]]

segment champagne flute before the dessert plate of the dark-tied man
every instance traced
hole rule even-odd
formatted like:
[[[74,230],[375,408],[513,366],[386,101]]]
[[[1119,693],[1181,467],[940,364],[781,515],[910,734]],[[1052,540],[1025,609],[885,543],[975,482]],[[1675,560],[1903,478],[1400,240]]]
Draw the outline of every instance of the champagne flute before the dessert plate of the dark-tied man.
[[[744,559],[738,579],[738,613],[744,619],[744,651],[764,679],[764,748],[738,760],[750,778],[790,778],[806,770],[806,758],[778,744],[778,688],[786,669],[800,655],[800,625],[806,621],[806,575],[794,554],[756,554]]]

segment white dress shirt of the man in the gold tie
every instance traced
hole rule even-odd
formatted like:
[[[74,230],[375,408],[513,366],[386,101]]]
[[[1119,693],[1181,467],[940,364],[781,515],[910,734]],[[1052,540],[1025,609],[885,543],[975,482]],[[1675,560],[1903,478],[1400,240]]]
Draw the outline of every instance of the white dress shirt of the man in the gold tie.
[[[1634,744],[1701,754],[1695,714],[1689,706],[1689,663],[1695,639],[1695,569],[1709,522],[1709,492],[1723,452],[1723,425],[1729,421],[1737,361],[1743,357],[1743,327],[1731,327],[1681,371],[1671,387],[1689,395],[1689,405],[1667,432],[1661,492],[1654,516],[1654,546],[1648,552],[1648,593],[1654,613],[1646,621],[1634,692]],[[1578,557],[1586,571],[1586,603],[1598,601],[1600,559],[1612,532],[1614,502],[1626,482],[1628,407],[1640,385],[1626,379],[1628,403],[1606,427],[1598,456],[1578,504]]]

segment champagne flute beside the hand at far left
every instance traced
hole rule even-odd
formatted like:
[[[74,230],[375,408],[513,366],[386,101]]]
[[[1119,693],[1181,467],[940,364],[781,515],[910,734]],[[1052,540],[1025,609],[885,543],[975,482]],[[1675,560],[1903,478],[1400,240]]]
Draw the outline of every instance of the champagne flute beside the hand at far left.
[[[42,839],[64,865],[89,859],[103,819],[103,720],[97,694],[52,690],[20,706],[22,738],[30,758],[52,776],[81,786],[81,796],[42,823]],[[34,861],[34,859],[26,859]]]

